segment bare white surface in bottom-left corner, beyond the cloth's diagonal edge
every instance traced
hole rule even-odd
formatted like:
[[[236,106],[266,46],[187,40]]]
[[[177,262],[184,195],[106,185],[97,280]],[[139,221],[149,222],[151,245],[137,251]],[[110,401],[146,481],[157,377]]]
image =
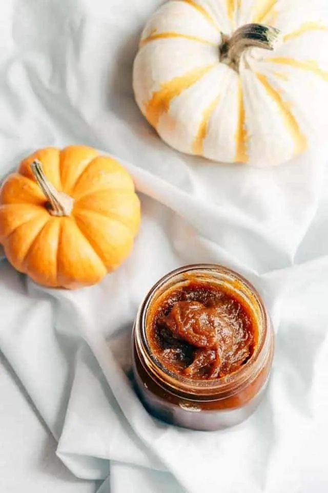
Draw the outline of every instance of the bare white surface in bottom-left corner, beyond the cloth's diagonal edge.
[[[95,493],[55,456],[57,442],[0,354],[0,491]]]

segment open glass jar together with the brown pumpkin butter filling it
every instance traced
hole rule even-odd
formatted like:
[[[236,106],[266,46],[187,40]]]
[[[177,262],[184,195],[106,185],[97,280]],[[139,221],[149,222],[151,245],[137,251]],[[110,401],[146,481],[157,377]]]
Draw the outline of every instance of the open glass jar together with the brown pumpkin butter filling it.
[[[147,410],[170,424],[216,430],[260,403],[273,329],[255,288],[227,268],[198,264],[160,279],[133,330],[133,373]]]

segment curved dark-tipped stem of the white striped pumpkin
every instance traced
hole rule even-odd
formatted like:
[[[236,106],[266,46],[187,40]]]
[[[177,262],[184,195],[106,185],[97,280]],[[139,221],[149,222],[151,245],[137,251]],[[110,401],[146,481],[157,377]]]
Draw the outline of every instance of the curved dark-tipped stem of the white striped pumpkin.
[[[222,36],[220,61],[238,72],[242,52],[246,48],[273,50],[277,44],[280,30],[263,24],[246,24],[237,29],[231,37]]]

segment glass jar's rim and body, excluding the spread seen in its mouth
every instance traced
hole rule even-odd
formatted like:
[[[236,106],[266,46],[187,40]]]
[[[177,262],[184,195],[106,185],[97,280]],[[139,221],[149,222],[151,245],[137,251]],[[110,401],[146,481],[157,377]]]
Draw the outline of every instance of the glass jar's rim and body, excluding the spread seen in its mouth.
[[[212,380],[172,376],[151,353],[146,326],[156,300],[190,280],[218,285],[243,299],[257,326],[258,340],[250,359],[237,371]],[[274,352],[270,318],[255,288],[222,266],[197,264],[170,272],[149,291],[133,329],[133,373],[146,409],[170,424],[195,430],[216,430],[247,419],[260,403],[269,380]]]

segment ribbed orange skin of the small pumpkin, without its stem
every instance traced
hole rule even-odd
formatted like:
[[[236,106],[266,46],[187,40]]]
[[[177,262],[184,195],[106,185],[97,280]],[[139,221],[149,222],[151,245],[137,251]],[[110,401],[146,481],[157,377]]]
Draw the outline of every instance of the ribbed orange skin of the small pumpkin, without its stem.
[[[38,159],[47,179],[74,199],[72,214],[52,216],[31,170]],[[37,283],[90,286],[130,254],[140,203],[129,173],[86,146],[37,150],[0,190],[0,243],[13,267]]]

